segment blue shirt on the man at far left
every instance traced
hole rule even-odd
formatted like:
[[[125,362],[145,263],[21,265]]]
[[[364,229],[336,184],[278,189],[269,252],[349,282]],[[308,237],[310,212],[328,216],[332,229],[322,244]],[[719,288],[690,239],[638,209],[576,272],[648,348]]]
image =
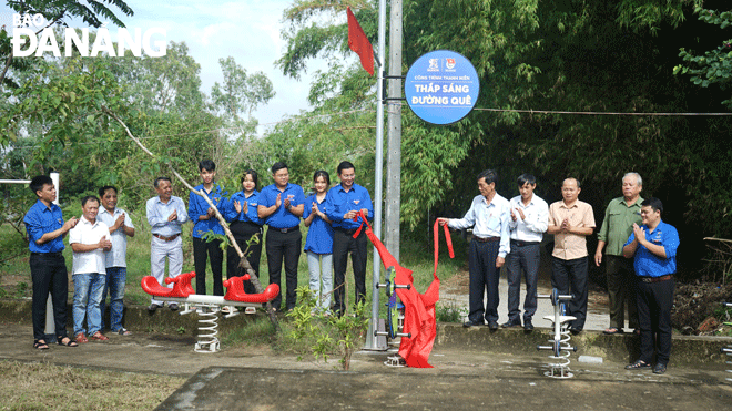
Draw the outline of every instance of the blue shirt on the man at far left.
[[[35,244],[38,239],[43,237],[43,234],[55,232],[63,227],[63,213],[61,208],[51,203],[47,207],[40,199],[33,204],[32,207],[26,213],[23,217],[26,224],[26,232],[28,232],[28,249],[31,253],[60,253],[63,251],[63,236],[58,236],[50,242],[41,245]]]

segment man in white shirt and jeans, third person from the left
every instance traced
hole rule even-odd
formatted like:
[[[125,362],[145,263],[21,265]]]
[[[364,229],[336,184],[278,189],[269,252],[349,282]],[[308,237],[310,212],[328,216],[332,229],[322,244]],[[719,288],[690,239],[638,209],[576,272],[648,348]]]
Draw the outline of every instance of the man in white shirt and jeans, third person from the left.
[[[128,237],[134,237],[134,226],[130,216],[116,207],[116,187],[108,185],[99,189],[102,198],[96,218],[110,227],[112,249],[106,253],[106,284],[102,291],[102,329],[104,328],[104,309],[106,290],[110,291],[110,329],[120,336],[132,332],[122,327],[124,311],[124,285],[128,278]]]

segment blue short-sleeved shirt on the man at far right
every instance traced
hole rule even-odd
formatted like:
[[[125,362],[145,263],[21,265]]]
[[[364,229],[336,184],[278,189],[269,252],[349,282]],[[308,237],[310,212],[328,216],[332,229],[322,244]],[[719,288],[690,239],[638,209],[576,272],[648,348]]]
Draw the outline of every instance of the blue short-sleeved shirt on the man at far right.
[[[663,247],[667,258],[655,256],[645,246],[639,244],[633,260],[636,275],[639,277],[662,277],[674,274],[677,271],[677,248],[679,248],[679,233],[675,227],[661,220],[651,233],[648,232],[645,225],[642,225],[641,228],[645,232],[645,239]],[[636,240],[636,233],[630,234],[630,238],[623,247],[633,240]]]

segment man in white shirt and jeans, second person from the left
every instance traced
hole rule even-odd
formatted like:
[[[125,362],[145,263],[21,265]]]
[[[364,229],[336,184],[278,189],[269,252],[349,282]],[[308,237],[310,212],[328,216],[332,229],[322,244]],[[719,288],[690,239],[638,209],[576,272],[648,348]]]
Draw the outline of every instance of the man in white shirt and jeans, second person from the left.
[[[77,342],[89,342],[84,332],[84,317],[92,340],[105,341],[102,329],[100,302],[106,281],[104,251],[112,248],[106,224],[96,219],[99,198],[87,196],[81,199],[83,216],[69,232],[69,244],[73,250],[73,333]]]

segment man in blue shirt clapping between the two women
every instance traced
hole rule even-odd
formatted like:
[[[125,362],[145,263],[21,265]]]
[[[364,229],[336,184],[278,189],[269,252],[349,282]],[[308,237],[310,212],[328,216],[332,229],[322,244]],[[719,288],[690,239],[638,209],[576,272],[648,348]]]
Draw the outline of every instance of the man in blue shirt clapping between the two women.
[[[262,188],[257,215],[267,225],[267,266],[270,284],[279,284],[282,260],[285,260],[287,284],[286,309],[295,308],[297,296],[297,261],[302,253],[303,235],[299,232],[299,218],[305,210],[305,194],[303,187],[289,183],[289,171],[283,162],[272,165],[274,184]],[[282,304],[282,287],[277,297],[272,300],[272,307],[279,309]]]

